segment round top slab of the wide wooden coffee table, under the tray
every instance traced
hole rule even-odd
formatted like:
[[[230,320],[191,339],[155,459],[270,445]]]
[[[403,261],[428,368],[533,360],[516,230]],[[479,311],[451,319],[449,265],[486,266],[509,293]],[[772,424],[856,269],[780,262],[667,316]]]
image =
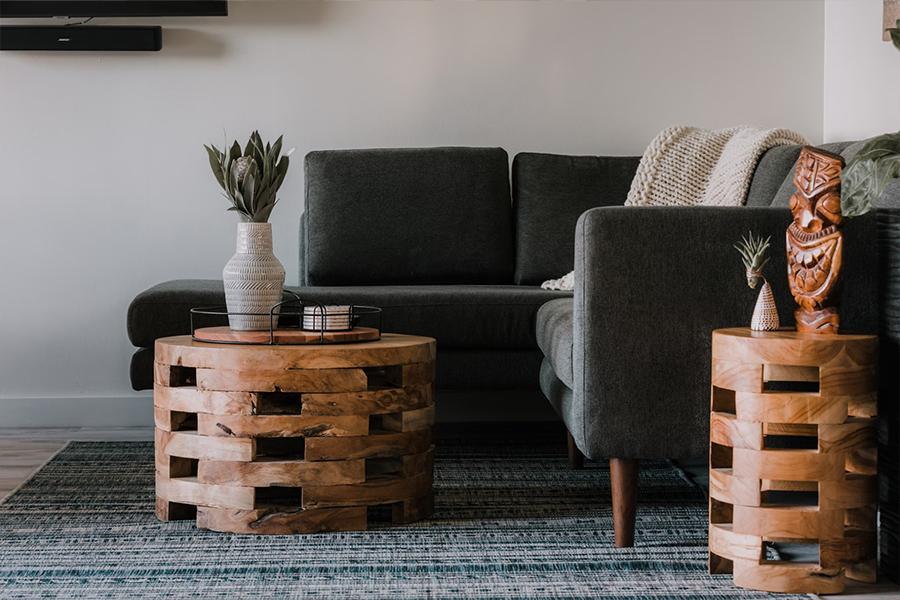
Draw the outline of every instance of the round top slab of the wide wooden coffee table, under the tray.
[[[325,346],[210,344],[189,335],[161,338],[155,345],[158,363],[234,371],[383,367],[428,363],[436,355],[433,339],[393,333],[382,334],[376,342]]]

